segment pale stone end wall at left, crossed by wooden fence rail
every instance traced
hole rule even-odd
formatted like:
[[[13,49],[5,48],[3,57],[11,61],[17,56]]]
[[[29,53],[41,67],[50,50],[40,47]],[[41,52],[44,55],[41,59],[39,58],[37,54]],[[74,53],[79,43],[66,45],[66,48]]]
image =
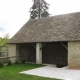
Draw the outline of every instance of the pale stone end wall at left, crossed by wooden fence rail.
[[[16,56],[16,44],[9,44],[8,45],[8,57]],[[16,60],[15,58],[10,58],[11,62],[14,63]]]

